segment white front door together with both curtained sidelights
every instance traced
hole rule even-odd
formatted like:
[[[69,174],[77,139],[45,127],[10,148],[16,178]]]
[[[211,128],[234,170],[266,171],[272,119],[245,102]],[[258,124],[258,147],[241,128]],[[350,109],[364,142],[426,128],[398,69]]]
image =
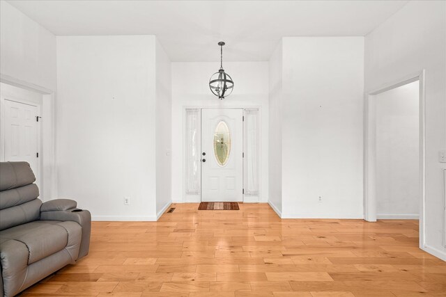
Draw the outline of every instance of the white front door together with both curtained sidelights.
[[[259,108],[185,108],[186,201],[260,201],[260,122]]]

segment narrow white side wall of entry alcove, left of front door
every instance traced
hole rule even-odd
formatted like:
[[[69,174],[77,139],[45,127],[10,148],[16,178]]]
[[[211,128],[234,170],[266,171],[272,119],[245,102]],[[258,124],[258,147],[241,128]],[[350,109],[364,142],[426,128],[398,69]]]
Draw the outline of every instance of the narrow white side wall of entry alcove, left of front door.
[[[171,63],[160,42],[156,40],[156,213],[160,217],[171,199]]]

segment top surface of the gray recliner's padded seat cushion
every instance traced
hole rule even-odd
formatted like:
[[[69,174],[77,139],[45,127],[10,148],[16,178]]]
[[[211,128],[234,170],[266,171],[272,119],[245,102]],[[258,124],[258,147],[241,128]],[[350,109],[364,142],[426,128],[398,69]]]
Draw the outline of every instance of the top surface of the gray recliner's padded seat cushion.
[[[1,241],[9,239],[24,244],[28,250],[27,264],[33,264],[66,248],[68,231],[59,223],[62,222],[42,220],[26,223],[1,231],[0,238]]]

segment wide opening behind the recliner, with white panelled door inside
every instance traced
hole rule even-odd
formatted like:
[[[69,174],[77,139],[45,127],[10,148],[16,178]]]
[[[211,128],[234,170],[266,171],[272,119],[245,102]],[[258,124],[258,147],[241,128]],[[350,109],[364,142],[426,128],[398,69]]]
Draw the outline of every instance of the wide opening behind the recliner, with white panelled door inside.
[[[12,114],[9,110],[9,114],[7,114],[6,111],[8,108],[15,110],[12,111]],[[25,118],[29,118],[29,123],[31,123],[31,119],[36,121],[33,123],[37,126],[37,150],[32,141],[28,143],[22,141],[22,144],[18,141],[13,143],[13,139],[11,138],[13,136],[12,132],[18,133],[15,133],[18,140],[20,137],[30,139],[29,136],[33,135],[35,131],[33,130],[33,125],[30,125],[31,127],[25,128],[26,131],[21,133],[20,129],[17,128],[17,123],[11,122],[15,111],[21,117],[18,118],[21,121],[18,123],[18,127],[22,125],[23,128],[24,125],[27,125]],[[39,118],[36,118],[36,116]],[[57,197],[55,122],[56,97],[54,91],[33,83],[15,79],[6,74],[0,74],[0,161],[29,161],[20,156],[10,156],[11,149],[14,148],[13,146],[17,148],[17,145],[19,147],[22,146],[21,149],[27,150],[29,157],[33,156],[37,159],[36,165],[31,164],[33,163],[32,161],[29,161],[29,163],[33,167],[33,172],[35,172],[40,199],[43,201]],[[11,127],[10,135],[5,133],[7,123],[9,125],[15,125],[15,127]],[[15,153],[17,152],[13,152],[13,154]],[[22,152],[18,153],[22,154]],[[20,159],[16,159],[16,157]]]

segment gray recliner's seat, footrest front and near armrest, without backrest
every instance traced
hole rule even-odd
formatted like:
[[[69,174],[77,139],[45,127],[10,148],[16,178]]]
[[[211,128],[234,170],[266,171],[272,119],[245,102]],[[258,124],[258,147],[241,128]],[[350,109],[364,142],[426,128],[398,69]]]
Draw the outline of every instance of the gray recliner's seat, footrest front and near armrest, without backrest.
[[[49,236],[48,238],[52,241],[52,244],[58,240],[51,234],[41,236],[39,232],[36,232],[43,227],[49,229],[48,231],[52,233],[57,230],[58,235],[56,237],[61,242],[66,243],[66,246],[36,261],[44,255],[36,250],[36,247],[43,243],[41,239]],[[65,230],[65,236],[60,236],[61,230]],[[66,239],[67,236],[68,240]],[[60,220],[41,220],[0,232],[0,270],[4,296],[15,296],[20,291],[45,278],[49,273],[57,271],[66,264],[74,264],[79,257],[81,237],[81,225],[72,221]],[[26,242],[28,246],[20,240]],[[47,239],[45,238],[45,240]],[[47,249],[46,243],[43,244],[43,249],[46,250],[45,254],[47,254],[50,250]],[[60,243],[56,242],[56,245],[60,245]],[[29,250],[29,247],[31,247],[31,250]],[[57,249],[53,248],[53,250]],[[31,264],[31,262],[33,263]],[[1,290],[0,293],[2,293]],[[3,296],[3,294],[0,295]]]

